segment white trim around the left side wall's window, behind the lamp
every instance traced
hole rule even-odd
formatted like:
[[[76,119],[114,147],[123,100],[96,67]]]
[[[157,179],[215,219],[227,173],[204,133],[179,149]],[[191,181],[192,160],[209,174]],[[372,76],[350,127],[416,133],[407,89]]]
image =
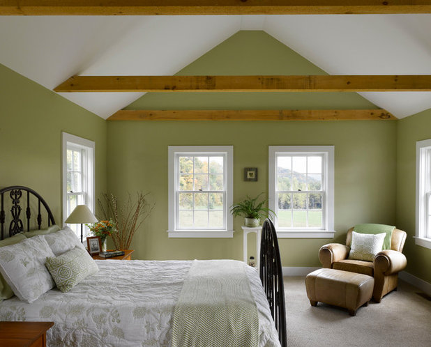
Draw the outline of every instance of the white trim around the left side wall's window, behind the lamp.
[[[95,193],[94,193],[94,186],[95,186],[95,178],[94,178],[94,170],[95,170],[95,166],[96,166],[96,162],[95,162],[95,143],[94,141],[91,140],[87,140],[87,139],[83,139],[82,137],[78,137],[75,136],[73,134],[68,134],[67,132],[61,132],[61,141],[62,141],[62,146],[61,146],[61,162],[62,162],[62,201],[63,201],[63,218],[61,219],[63,222],[63,225],[66,225],[66,223],[64,222],[68,215],[67,211],[66,211],[66,194],[67,194],[67,177],[66,177],[66,172],[67,172],[67,148],[68,148],[68,142],[73,144],[73,146],[75,147],[82,147],[85,149],[89,149],[89,155],[90,155],[90,160],[93,165],[90,165],[89,167],[86,168],[87,171],[87,183],[90,186],[90,188],[87,186],[86,187],[86,191],[90,192],[90,194],[88,194],[88,199],[86,201],[86,206],[91,210],[92,213],[94,213],[95,210]],[[86,233],[85,233],[85,228],[86,226],[84,226],[84,240],[86,238]]]

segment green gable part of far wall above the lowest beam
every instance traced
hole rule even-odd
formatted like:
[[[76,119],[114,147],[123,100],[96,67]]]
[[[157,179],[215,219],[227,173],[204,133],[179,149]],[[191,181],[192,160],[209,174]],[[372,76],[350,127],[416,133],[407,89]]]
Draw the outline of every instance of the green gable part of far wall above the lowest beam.
[[[239,31],[176,75],[327,75],[264,31]],[[375,109],[356,93],[146,93],[125,109]]]

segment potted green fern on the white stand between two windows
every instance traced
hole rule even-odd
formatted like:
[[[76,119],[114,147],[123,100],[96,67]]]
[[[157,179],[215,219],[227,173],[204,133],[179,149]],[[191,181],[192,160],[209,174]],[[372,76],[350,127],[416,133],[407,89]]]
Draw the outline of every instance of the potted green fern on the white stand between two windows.
[[[269,213],[273,213],[273,215],[275,215],[273,210],[264,207],[264,203],[266,203],[265,199],[259,203],[257,202],[257,199],[259,199],[259,196],[262,194],[263,193],[260,193],[253,199],[250,198],[250,196],[247,196],[243,201],[234,203],[230,207],[230,213],[234,217],[243,215],[245,217],[245,226],[259,226],[261,217],[266,217]]]

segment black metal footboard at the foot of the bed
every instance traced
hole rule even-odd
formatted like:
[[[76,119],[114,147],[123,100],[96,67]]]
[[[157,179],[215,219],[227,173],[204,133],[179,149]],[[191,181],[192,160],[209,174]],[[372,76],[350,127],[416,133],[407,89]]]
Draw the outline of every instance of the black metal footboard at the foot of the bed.
[[[260,242],[260,279],[269,302],[271,315],[282,347],[287,346],[285,286],[283,284],[280,249],[271,219],[265,219]]]

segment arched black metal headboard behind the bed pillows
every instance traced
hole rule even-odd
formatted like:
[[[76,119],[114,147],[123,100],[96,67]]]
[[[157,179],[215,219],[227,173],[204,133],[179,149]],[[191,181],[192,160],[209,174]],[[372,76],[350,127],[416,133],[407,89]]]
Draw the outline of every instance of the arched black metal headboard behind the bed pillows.
[[[37,192],[32,190],[28,187],[23,187],[22,185],[12,185],[10,187],[6,187],[0,190],[1,195],[1,210],[0,210],[0,224],[1,224],[1,240],[5,238],[5,228],[4,224],[6,224],[6,213],[4,211],[5,209],[5,200],[11,199],[11,208],[10,213],[12,215],[12,220],[9,224],[9,236],[14,236],[17,233],[21,233],[24,231],[24,224],[21,219],[21,211],[22,207],[20,205],[20,199],[22,198],[22,192],[27,192],[27,208],[25,210],[26,212],[26,218],[27,218],[27,231],[30,230],[30,219],[31,219],[31,208],[30,208],[30,196],[36,196],[36,199],[38,199],[38,215],[37,215],[37,224],[38,229],[40,229],[40,226],[42,225],[42,215],[40,213],[40,204],[45,207],[45,210],[47,211],[47,221],[48,226],[55,224],[54,216],[52,215],[52,212],[50,210],[50,206],[45,202],[42,196],[40,196]],[[31,195],[30,195],[31,194]],[[25,199],[25,198],[24,198]],[[24,218],[23,218],[24,219]]]

